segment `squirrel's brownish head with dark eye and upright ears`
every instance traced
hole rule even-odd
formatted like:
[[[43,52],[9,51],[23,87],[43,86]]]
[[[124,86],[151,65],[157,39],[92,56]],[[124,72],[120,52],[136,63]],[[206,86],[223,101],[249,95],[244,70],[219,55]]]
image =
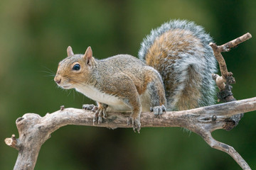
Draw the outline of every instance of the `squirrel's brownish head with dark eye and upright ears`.
[[[59,62],[54,81],[63,89],[73,89],[90,81],[96,61],[92,57],[92,48],[87,47],[85,55],[74,55],[70,46],[68,57]]]

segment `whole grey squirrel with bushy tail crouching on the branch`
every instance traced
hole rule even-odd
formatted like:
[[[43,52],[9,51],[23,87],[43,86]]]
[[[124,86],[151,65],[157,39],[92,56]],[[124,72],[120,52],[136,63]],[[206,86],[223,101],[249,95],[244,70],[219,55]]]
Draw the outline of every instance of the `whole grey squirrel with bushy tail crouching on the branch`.
[[[128,124],[140,130],[140,113],[181,111],[214,103],[216,62],[209,43],[210,35],[193,22],[174,20],[151,30],[143,40],[139,59],[115,55],[105,60],[84,55],[61,61],[55,82],[63,89],[76,89],[97,101],[94,122],[111,111],[132,111]]]

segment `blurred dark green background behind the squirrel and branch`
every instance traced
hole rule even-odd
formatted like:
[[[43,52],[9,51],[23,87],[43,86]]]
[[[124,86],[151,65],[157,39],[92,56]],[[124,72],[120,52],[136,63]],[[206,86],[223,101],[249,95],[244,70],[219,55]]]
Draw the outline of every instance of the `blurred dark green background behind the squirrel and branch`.
[[[97,58],[119,53],[137,56],[151,28],[169,19],[195,21],[218,45],[250,32],[252,39],[224,53],[237,84],[237,99],[256,96],[256,1],[0,1],[0,169],[13,169],[18,152],[6,137],[18,136],[15,120],[41,116],[65,105],[94,103],[74,90],[57,88],[53,75],[66,57],[91,46]],[[246,113],[230,132],[213,136],[232,145],[248,164],[256,164],[256,113]],[[226,153],[210,148],[182,128],[109,130],[69,125],[42,146],[35,169],[240,169]]]

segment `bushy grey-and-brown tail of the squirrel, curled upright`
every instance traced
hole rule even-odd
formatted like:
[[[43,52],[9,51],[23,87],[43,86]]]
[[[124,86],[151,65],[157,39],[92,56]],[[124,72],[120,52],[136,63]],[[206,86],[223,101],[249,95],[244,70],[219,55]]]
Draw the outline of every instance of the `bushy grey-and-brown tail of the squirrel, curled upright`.
[[[174,20],[151,30],[139,58],[154,67],[164,81],[166,108],[181,111],[214,103],[211,74],[216,61],[210,35],[193,22]]]

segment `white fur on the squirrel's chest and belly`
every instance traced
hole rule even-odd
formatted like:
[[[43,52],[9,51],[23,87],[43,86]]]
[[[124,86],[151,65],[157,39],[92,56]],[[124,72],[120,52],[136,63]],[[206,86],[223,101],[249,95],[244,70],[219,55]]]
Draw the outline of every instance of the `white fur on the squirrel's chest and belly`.
[[[109,106],[107,111],[131,111],[131,108],[118,97],[102,93],[93,86],[82,86],[82,88],[75,88],[75,90],[94,101],[107,104]],[[149,98],[148,93],[144,93],[140,96],[140,101],[144,103],[142,105],[142,111],[149,111]]]

